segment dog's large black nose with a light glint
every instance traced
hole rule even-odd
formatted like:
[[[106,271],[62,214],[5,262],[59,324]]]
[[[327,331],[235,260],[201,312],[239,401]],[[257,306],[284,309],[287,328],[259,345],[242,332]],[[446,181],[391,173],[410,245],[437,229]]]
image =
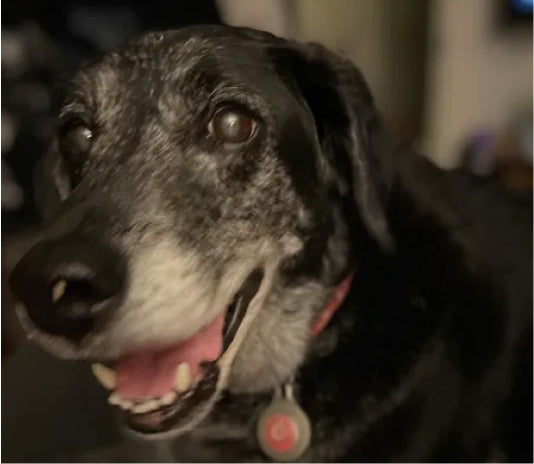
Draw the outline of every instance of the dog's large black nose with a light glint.
[[[80,340],[116,306],[126,264],[114,248],[84,237],[38,243],[10,276],[10,286],[42,330]]]

